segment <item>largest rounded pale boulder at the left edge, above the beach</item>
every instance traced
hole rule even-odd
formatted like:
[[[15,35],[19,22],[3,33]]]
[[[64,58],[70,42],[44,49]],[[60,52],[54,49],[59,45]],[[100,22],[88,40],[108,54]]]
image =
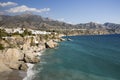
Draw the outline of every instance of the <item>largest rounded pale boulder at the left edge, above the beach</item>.
[[[1,54],[0,58],[0,62],[3,62],[8,68],[19,70],[24,54],[16,48],[9,48]]]

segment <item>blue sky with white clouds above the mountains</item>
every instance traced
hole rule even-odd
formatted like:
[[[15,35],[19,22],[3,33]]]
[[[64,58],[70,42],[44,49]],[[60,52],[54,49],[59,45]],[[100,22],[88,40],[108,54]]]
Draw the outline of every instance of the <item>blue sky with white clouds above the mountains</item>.
[[[0,0],[0,15],[32,13],[72,24],[120,24],[120,0]]]

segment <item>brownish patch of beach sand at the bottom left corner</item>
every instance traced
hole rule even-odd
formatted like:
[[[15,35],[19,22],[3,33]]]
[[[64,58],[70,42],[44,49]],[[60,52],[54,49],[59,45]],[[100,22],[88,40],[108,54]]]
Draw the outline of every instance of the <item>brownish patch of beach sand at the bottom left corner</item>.
[[[12,72],[0,73],[0,80],[23,80],[26,75],[24,71],[13,70]]]

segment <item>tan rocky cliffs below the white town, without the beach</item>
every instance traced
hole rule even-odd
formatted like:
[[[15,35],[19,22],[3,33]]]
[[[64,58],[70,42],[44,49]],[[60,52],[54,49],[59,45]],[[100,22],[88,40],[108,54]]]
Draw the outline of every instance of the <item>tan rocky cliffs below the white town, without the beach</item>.
[[[52,39],[41,41],[40,36],[6,37],[0,39],[4,49],[0,50],[0,72],[13,70],[26,71],[26,63],[40,61],[38,53],[48,48],[57,46]]]

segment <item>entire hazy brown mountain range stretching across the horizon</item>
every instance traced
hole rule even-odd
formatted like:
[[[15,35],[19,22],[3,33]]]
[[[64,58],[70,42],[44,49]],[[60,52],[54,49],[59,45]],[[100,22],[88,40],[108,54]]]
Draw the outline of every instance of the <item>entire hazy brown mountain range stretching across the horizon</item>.
[[[80,23],[73,25],[33,14],[22,14],[15,16],[0,15],[0,27],[5,27],[5,28],[25,27],[25,28],[40,29],[40,30],[104,29],[104,30],[108,30],[109,32],[112,31],[113,33],[120,32],[120,24],[109,23],[109,22],[104,24],[98,24],[95,22],[89,22],[84,24]]]

